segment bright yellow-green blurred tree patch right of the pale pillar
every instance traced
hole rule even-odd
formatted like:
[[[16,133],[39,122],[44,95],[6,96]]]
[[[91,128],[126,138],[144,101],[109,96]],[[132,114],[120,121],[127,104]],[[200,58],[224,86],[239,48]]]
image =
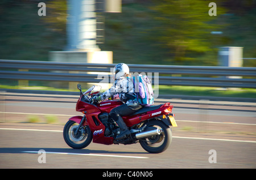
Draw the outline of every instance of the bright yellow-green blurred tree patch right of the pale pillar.
[[[211,31],[219,31],[220,25],[211,23],[217,16],[209,16],[208,7],[211,1],[183,0],[156,1],[152,9],[158,12],[156,20],[162,25],[154,27],[159,32],[159,41],[170,49],[174,61],[193,61],[192,54],[200,54],[211,50]],[[218,16],[224,14],[224,8],[218,7]]]

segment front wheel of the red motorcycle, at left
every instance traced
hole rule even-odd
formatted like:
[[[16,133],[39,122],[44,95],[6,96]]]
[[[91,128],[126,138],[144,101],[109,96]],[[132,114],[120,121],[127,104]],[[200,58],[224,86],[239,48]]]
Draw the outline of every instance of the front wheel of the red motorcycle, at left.
[[[77,127],[79,127],[78,123],[69,120],[64,126],[63,138],[69,147],[82,149],[92,142],[93,134],[89,126],[82,126],[76,134]]]

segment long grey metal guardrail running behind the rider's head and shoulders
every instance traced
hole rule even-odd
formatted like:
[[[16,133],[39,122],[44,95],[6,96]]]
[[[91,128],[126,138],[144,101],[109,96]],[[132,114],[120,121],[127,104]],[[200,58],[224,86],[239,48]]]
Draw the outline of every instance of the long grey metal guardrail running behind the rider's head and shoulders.
[[[103,77],[108,78],[110,83],[109,75],[99,75],[98,72],[110,73],[114,66],[101,63],[0,60],[0,78],[99,83]],[[159,85],[256,88],[256,67],[132,64],[129,67],[133,73],[151,73],[152,83]]]

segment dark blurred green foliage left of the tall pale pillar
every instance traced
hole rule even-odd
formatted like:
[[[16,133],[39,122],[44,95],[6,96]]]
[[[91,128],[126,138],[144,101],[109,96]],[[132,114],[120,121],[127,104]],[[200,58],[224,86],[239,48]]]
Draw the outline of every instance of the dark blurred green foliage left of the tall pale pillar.
[[[46,2],[46,16],[38,16],[39,2]],[[50,2],[0,1],[0,59],[48,61],[49,51],[63,50],[65,22],[60,22],[60,17],[51,20]]]

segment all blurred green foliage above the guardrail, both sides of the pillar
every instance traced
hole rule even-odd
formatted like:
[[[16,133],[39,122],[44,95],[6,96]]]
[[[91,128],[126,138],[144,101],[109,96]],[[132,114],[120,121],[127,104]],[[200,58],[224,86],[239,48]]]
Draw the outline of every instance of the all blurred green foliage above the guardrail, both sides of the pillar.
[[[47,16],[38,16],[39,2]],[[217,16],[208,15],[209,2]],[[139,64],[216,66],[220,46],[243,46],[243,57],[255,58],[255,8],[253,0],[126,0],[122,13],[103,13],[100,48],[113,51],[114,62]],[[67,1],[0,1],[0,59],[48,61],[49,51],[65,49],[66,22]]]

